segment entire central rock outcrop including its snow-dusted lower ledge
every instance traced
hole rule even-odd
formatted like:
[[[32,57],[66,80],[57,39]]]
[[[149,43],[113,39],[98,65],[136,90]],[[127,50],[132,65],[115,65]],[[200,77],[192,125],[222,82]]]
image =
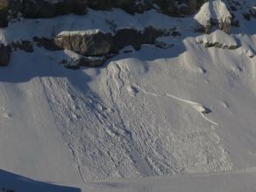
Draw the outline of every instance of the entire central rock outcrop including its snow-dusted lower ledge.
[[[34,38],[34,41],[50,51],[65,50],[65,53],[72,55],[72,60],[65,60],[63,64],[66,68],[75,69],[101,66],[125,46],[138,50],[143,44],[154,44],[159,37],[176,34],[174,30],[147,27],[144,31],[119,29],[115,34],[98,30],[60,32],[55,39]]]

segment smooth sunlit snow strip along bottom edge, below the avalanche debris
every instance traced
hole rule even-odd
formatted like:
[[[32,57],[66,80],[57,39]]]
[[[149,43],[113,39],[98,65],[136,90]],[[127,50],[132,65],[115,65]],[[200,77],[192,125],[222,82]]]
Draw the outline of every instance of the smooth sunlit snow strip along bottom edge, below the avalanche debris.
[[[166,176],[102,184],[88,183],[79,188],[86,192],[204,192],[204,191],[255,191],[255,173],[230,173],[215,175]],[[243,183],[243,184],[241,184]],[[75,190],[74,190],[75,191]]]

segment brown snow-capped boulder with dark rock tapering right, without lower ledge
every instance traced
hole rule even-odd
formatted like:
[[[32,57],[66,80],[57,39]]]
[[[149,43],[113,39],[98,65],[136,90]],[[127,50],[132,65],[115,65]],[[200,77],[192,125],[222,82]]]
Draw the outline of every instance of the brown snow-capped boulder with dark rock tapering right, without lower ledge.
[[[56,46],[84,56],[103,56],[117,53],[124,46],[139,49],[142,44],[153,44],[155,39],[167,36],[170,32],[147,27],[144,31],[120,29],[113,35],[97,30],[83,32],[60,32],[54,39]]]

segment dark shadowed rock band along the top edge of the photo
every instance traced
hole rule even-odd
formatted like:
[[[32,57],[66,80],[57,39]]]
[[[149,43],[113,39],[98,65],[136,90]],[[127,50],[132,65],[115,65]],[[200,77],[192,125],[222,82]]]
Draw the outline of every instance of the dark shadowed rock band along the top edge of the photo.
[[[96,10],[123,9],[134,14],[150,9],[183,17],[193,14],[206,0],[0,0],[0,27],[7,25],[8,10],[12,17],[21,12],[25,18],[52,18],[57,15],[75,13],[86,14],[88,8]]]

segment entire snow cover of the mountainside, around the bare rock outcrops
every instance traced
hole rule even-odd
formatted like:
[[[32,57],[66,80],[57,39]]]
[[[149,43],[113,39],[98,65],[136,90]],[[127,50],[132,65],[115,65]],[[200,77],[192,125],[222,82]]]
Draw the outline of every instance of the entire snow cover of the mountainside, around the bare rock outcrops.
[[[117,28],[176,26],[182,35],[160,39],[174,45],[167,49],[145,45],[76,71],[58,65],[79,57],[68,50],[12,53],[0,68],[0,168],[82,191],[255,190],[255,19],[240,18],[231,35],[202,35],[191,30],[194,18],[89,11],[24,19],[1,29],[1,39],[112,32],[105,19]],[[117,181],[160,175],[173,176]]]

